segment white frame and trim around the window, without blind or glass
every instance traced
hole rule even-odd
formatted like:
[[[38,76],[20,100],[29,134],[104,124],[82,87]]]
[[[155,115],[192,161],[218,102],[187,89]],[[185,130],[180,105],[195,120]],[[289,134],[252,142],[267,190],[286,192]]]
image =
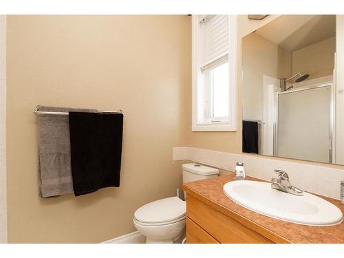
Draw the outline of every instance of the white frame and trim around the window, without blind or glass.
[[[229,55],[228,55],[228,121],[197,122],[197,82],[200,71],[203,32],[200,17],[192,17],[192,131],[237,131],[237,16],[228,15]],[[203,16],[204,17],[204,16]],[[202,17],[201,17],[202,18]],[[213,118],[214,119],[214,118]],[[212,120],[213,120],[212,119]]]

